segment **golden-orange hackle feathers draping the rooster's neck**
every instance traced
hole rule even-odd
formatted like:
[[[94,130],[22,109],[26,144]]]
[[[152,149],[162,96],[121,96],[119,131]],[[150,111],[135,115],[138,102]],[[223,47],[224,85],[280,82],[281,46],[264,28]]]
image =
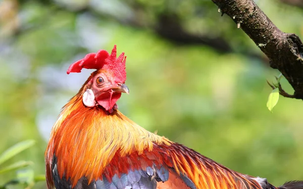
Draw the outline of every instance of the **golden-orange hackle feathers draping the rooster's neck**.
[[[170,145],[166,138],[147,132],[119,111],[108,115],[98,107],[86,108],[82,94],[80,91],[65,105],[54,125],[45,153],[47,172],[51,172],[49,166],[55,154],[63,162],[58,167],[59,175],[65,173],[74,186],[83,175],[97,179],[118,149],[119,155],[125,157],[152,151],[154,143]],[[47,181],[51,184],[52,177]]]

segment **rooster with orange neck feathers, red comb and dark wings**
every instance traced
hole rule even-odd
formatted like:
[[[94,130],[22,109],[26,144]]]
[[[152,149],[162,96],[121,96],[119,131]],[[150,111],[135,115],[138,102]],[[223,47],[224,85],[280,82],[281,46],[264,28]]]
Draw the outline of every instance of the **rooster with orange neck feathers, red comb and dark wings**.
[[[45,151],[49,189],[303,189],[303,181],[275,187],[228,169],[127,118],[116,104],[129,94],[126,56],[116,54],[116,45],[111,54],[87,54],[67,71],[96,69],[52,129]]]

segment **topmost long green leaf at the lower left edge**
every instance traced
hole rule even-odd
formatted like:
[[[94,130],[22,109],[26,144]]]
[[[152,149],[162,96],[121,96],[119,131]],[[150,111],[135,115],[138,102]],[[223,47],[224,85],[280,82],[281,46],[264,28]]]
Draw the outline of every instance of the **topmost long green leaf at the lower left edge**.
[[[18,153],[22,152],[23,150],[28,149],[29,147],[33,146],[35,144],[35,141],[33,140],[27,140],[20,142],[11,148],[7,149],[5,152],[3,152],[0,155],[0,165],[4,163],[5,161],[9,160],[10,158],[14,157]]]

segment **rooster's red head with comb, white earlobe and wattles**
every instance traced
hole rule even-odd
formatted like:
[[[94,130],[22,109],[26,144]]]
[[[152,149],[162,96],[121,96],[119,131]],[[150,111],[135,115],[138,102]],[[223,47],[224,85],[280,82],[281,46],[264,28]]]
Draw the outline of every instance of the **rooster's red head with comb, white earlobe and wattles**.
[[[82,68],[96,69],[82,88],[82,100],[85,106],[100,105],[110,112],[118,108],[116,102],[121,97],[121,93],[129,93],[128,87],[124,84],[125,61],[124,52],[117,58],[115,45],[111,54],[106,50],[89,53],[69,67],[67,74],[79,73]]]

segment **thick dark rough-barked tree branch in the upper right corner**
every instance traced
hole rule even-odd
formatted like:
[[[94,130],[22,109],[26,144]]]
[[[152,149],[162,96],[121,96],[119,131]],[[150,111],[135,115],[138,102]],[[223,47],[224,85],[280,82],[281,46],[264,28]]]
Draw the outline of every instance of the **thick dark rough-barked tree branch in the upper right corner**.
[[[252,0],[212,1],[267,55],[270,67],[287,79],[294,89],[288,97],[303,99],[303,44],[299,37],[280,31]]]

